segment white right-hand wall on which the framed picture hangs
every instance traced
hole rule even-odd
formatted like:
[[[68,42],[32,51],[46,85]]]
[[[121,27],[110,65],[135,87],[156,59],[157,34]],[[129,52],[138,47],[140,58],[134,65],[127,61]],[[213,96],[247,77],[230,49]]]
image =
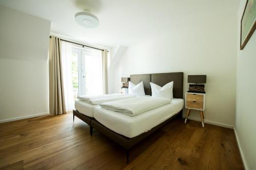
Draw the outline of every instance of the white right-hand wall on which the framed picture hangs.
[[[241,0],[238,13],[238,35],[240,21],[246,0]],[[236,131],[240,143],[240,151],[246,169],[256,167],[256,33],[251,36],[243,50],[240,49],[238,36],[237,56],[237,102]]]

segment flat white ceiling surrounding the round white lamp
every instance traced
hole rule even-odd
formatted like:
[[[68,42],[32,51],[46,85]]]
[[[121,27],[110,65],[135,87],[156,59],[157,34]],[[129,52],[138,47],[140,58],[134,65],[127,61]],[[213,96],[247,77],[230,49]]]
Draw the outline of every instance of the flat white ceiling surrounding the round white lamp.
[[[182,33],[233,1],[238,0],[0,0],[0,5],[51,20],[53,33],[111,48]],[[99,18],[99,27],[83,28],[75,22],[75,13],[84,10]]]

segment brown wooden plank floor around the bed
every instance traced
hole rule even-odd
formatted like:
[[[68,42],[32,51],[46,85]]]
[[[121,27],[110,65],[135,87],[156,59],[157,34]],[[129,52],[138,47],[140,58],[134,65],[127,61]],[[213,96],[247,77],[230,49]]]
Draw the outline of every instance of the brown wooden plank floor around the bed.
[[[125,151],[71,113],[0,124],[0,169],[243,169],[231,129],[175,119]]]

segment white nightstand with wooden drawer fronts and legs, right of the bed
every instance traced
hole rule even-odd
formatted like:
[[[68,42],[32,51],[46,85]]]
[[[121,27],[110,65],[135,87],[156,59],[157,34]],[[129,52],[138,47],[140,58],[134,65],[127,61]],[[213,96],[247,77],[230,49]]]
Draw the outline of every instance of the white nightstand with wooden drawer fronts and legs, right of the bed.
[[[190,109],[199,110],[201,115],[202,126],[204,127],[204,106],[205,106],[205,94],[204,93],[186,93],[186,108],[187,113],[185,117],[185,123],[189,116]]]

